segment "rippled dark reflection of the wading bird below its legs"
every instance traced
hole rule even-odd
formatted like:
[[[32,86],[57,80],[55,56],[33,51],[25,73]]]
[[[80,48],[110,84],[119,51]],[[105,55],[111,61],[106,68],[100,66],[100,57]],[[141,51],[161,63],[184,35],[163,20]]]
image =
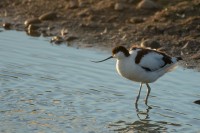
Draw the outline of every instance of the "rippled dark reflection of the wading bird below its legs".
[[[135,105],[137,106],[137,105]],[[175,126],[175,127],[181,127],[181,124],[173,123],[173,122],[166,122],[166,121],[153,121],[150,118],[150,111],[153,108],[159,108],[159,107],[150,107],[147,106],[145,111],[140,111],[138,107],[136,107],[136,115],[139,120],[136,120],[134,122],[127,123],[126,121],[117,121],[114,124],[110,124],[110,127],[116,127],[115,131],[117,132],[167,132],[168,126]],[[167,116],[169,117],[169,116]]]

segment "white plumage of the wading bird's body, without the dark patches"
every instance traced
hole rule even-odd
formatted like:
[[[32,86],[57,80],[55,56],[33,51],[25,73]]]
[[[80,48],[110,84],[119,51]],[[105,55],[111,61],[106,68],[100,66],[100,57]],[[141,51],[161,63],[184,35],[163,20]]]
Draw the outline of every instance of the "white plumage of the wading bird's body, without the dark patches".
[[[118,52],[115,55],[117,58],[116,69],[117,72],[132,81],[142,82],[142,83],[152,83],[156,81],[159,77],[164,75],[166,72],[171,71],[177,63],[177,58],[172,57],[171,64],[163,65],[163,55],[157,53],[156,51],[150,52],[144,55],[140,63],[135,63],[135,57],[140,49],[129,51],[130,56],[126,57],[123,52]],[[147,67],[152,71],[147,71],[142,67]]]

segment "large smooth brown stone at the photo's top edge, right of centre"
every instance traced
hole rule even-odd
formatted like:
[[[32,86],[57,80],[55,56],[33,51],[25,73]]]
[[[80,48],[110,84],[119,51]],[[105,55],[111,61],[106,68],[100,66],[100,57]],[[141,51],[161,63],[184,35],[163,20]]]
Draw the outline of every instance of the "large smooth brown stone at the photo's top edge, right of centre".
[[[138,3],[136,8],[151,10],[151,9],[160,9],[161,6],[151,0],[142,0],[140,3]]]

